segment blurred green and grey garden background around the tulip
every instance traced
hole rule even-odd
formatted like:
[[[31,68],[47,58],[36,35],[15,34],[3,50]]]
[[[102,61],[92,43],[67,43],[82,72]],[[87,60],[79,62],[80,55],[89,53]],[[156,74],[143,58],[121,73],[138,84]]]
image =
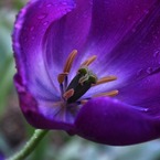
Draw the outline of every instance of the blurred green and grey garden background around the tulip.
[[[0,0],[0,151],[20,150],[34,131],[19,108],[11,44],[15,14],[25,0]],[[94,143],[63,131],[50,131],[28,160],[160,160],[160,140],[130,147]]]

